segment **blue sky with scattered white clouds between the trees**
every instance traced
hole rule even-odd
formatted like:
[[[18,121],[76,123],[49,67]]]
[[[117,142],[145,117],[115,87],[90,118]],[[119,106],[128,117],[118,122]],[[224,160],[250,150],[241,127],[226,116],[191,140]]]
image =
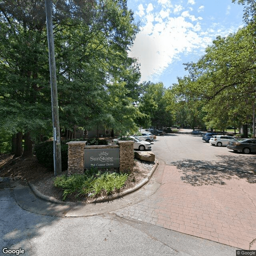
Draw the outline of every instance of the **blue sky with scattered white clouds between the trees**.
[[[232,0],[128,0],[140,22],[129,56],[140,63],[141,80],[168,88],[188,75],[183,63],[197,62],[217,36],[244,26],[243,6]]]

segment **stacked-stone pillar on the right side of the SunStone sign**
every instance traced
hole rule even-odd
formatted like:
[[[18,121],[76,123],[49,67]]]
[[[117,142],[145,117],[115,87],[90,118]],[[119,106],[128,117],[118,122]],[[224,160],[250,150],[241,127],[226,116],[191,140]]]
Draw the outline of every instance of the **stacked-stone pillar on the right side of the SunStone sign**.
[[[119,159],[119,172],[132,172],[133,170],[133,141],[119,141],[120,146],[120,159]]]

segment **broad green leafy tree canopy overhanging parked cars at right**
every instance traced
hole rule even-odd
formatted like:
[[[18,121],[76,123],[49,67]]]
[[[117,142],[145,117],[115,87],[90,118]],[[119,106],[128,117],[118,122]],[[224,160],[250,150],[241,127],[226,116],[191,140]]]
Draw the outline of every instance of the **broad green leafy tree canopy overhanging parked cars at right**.
[[[218,36],[198,62],[186,64],[190,74],[180,78],[176,88],[190,101],[206,104],[208,124],[215,122],[215,126],[223,130],[222,126],[230,122],[228,111],[234,109],[236,113],[248,111],[240,118],[242,124],[246,123],[255,106],[255,50],[252,24],[226,38]],[[248,105],[251,107],[244,108]]]

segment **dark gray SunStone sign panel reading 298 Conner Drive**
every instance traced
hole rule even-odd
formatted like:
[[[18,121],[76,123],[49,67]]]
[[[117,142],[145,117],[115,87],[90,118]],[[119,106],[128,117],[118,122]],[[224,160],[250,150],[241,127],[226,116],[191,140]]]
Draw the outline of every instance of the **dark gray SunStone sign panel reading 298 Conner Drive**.
[[[119,167],[119,148],[85,149],[84,168]]]

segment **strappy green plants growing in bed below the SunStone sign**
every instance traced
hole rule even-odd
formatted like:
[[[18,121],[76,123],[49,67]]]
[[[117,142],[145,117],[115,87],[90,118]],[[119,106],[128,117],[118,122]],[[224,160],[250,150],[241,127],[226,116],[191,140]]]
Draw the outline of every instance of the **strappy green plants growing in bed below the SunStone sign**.
[[[97,168],[92,168],[84,174],[73,174],[70,177],[66,175],[58,176],[54,180],[54,185],[64,190],[63,200],[66,200],[66,197],[73,193],[76,197],[98,196],[102,192],[109,195],[114,189],[120,190],[127,178],[128,174],[116,172],[100,174]]]

